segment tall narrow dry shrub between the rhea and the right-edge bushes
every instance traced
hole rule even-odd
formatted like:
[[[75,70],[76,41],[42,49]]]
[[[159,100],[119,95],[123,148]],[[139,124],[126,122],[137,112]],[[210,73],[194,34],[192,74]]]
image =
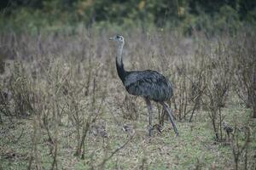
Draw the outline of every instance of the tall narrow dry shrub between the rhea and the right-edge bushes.
[[[208,59],[204,105],[212,122],[215,139],[223,141],[222,122],[224,116],[221,110],[227,100],[233,76],[230,55],[227,54],[224,43],[218,42],[214,55]]]

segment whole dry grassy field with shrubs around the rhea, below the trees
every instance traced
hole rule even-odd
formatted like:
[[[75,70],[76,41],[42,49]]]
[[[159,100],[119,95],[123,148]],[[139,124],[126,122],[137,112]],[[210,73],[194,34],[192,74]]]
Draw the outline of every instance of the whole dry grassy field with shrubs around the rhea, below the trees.
[[[162,132],[148,137],[143,99],[127,94],[117,76],[113,34],[1,35],[0,169],[235,169],[239,150],[237,168],[255,169],[253,102],[239,82],[241,72],[255,77],[255,33],[124,31],[126,70],[156,70],[171,80],[177,137],[166,118]],[[161,114],[154,103],[153,124]],[[222,122],[234,129],[230,141]]]

